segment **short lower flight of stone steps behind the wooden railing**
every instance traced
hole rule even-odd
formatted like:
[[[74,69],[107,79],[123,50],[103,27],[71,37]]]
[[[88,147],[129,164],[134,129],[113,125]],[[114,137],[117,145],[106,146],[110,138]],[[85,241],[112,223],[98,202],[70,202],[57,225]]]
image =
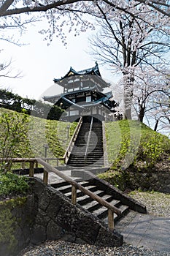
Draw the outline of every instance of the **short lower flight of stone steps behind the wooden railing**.
[[[128,212],[131,210],[146,213],[146,208],[140,203],[136,202],[131,197],[123,195],[119,189],[116,189],[112,185],[99,178],[96,178],[95,176],[93,176],[93,178],[91,177],[88,181],[79,181],[78,183],[121,211],[119,216],[114,214],[115,223],[121,218],[125,217],[125,215],[128,214]],[[58,184],[51,184],[51,186],[66,195],[66,197],[69,197],[69,199],[72,198],[71,184],[68,184],[67,182],[61,182]],[[93,214],[94,217],[97,217],[98,219],[101,219],[106,224],[108,224],[108,209],[104,206],[101,206],[100,203],[98,203],[96,200],[93,200],[88,195],[84,195],[79,190],[77,190],[77,204],[82,206],[82,208],[84,208],[86,211],[89,211],[91,214]]]

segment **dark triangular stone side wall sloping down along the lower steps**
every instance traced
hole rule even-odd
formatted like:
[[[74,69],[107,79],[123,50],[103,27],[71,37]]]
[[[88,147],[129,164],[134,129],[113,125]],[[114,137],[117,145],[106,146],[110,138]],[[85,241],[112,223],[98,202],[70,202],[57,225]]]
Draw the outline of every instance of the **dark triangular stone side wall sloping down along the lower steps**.
[[[107,225],[93,217],[53,187],[34,179],[33,192],[38,211],[34,220],[31,243],[63,239],[76,243],[120,246],[123,236],[108,230]]]

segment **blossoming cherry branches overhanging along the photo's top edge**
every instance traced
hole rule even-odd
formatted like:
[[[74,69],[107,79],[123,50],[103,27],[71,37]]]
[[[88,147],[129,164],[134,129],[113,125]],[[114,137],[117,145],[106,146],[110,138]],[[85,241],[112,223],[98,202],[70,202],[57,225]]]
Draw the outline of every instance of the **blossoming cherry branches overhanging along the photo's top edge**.
[[[140,15],[139,8],[147,7],[150,12],[159,19],[161,23],[164,22],[165,17],[170,16],[170,4],[165,0],[93,0],[93,1],[80,1],[80,0],[1,0],[0,1],[0,17],[1,29],[10,26],[22,27],[26,24],[26,15],[29,21],[45,18],[49,23],[49,28],[42,33],[48,31],[48,39],[53,39],[53,34],[57,34],[66,43],[66,34],[63,31],[63,26],[69,26],[69,31],[74,31],[79,34],[80,31],[86,31],[87,28],[94,29],[92,23],[88,21],[87,16],[84,14],[93,15],[102,18],[101,10],[113,17],[117,13],[132,15],[137,18]],[[134,8],[138,10],[134,12]],[[154,16],[150,22],[154,24]],[[33,20],[31,20],[33,19]],[[146,20],[147,17],[142,17]],[[23,21],[22,21],[23,20]],[[147,20],[148,21],[148,20]],[[167,22],[167,20],[166,20]]]

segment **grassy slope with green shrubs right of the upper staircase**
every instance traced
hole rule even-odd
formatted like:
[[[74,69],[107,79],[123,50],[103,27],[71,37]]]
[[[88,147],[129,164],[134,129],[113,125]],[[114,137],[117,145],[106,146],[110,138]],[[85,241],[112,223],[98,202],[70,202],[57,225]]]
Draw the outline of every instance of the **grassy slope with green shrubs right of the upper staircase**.
[[[135,170],[151,170],[156,166],[169,170],[170,140],[166,136],[138,121],[126,120],[107,123],[106,135],[109,165],[112,167],[109,172],[101,174],[101,178],[112,177],[115,171],[122,171],[128,165]]]

